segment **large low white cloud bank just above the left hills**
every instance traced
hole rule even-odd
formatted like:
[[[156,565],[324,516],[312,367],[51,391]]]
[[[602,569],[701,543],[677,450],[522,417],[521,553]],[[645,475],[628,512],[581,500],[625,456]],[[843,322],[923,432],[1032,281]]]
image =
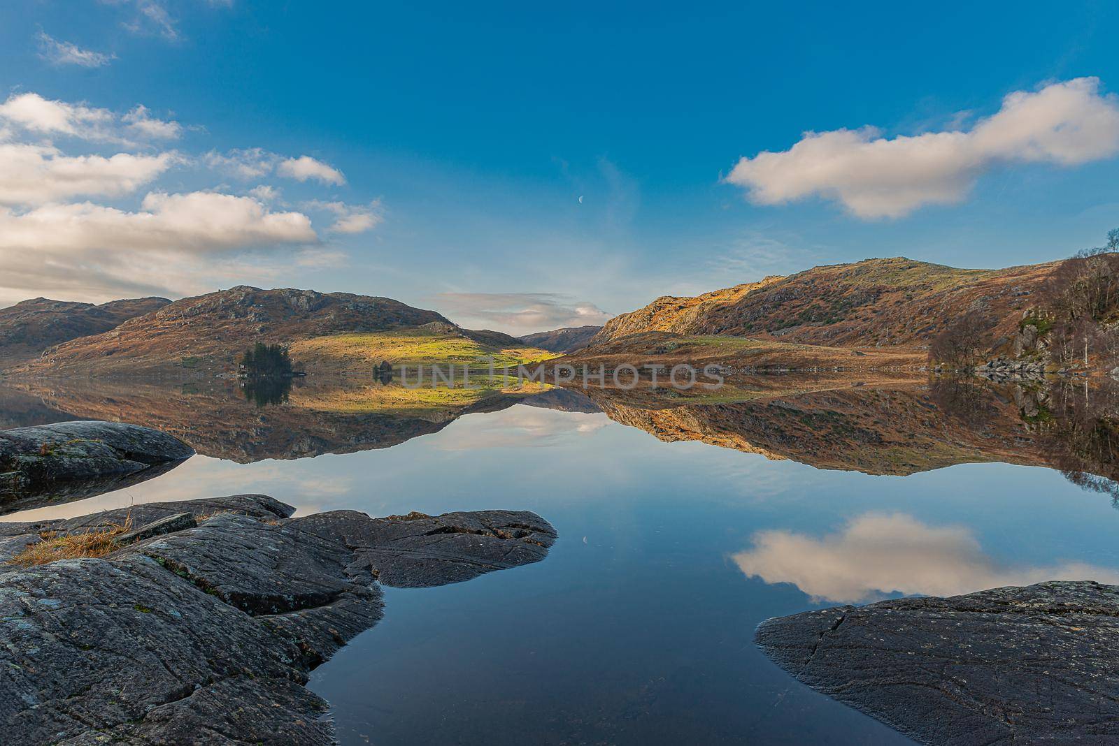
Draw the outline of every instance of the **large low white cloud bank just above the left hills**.
[[[326,266],[327,252],[305,248],[317,242],[302,213],[273,212],[252,198],[214,192],[152,192],[137,211],[91,202],[26,212],[0,208],[0,299],[209,291],[219,280],[271,276],[274,255],[284,247],[300,266]],[[273,258],[245,254],[253,249],[267,249]]]

